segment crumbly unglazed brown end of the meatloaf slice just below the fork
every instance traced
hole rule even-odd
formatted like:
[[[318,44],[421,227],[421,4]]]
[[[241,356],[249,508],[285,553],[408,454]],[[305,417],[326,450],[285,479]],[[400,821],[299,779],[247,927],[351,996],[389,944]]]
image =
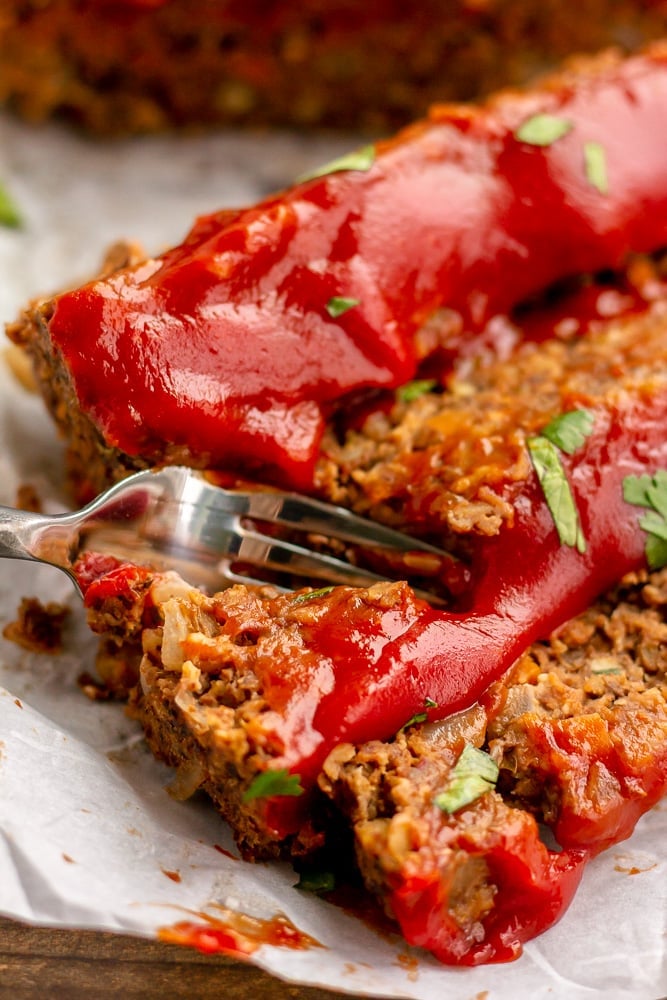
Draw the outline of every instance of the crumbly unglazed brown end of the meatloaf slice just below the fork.
[[[207,792],[246,857],[320,848],[317,797],[314,811],[299,814],[297,832],[285,837],[264,808],[272,793],[253,790],[260,775],[282,773],[279,705],[307,672],[312,631],[332,606],[339,617],[349,606],[377,622],[414,603],[407,585],[337,587],[322,596],[235,586],[208,596],[175,574],[121,564],[88,586],[86,603],[102,638],[102,679],[116,695],[129,695],[151,749],[178,769],[176,794]]]

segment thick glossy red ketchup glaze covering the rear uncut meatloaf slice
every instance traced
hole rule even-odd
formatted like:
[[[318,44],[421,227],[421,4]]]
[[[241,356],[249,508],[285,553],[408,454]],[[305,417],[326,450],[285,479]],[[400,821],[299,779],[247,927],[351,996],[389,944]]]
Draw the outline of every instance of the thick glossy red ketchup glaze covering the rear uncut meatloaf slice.
[[[570,131],[520,142],[538,112]],[[460,312],[469,336],[560,278],[664,245],[666,128],[664,47],[572,87],[435,108],[378,143],[370,169],[202,218],[163,256],[59,296],[51,337],[121,450],[150,459],[171,442],[306,488],[332,408],[409,380],[434,310]],[[334,297],[359,304],[332,318]]]

